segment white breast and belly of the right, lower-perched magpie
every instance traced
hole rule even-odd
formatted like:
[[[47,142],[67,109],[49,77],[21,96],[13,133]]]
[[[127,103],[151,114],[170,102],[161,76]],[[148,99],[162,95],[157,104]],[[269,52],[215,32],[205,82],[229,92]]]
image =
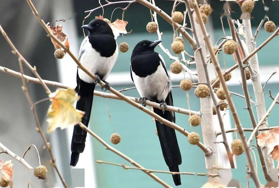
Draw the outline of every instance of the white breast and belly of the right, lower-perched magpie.
[[[132,71],[135,86],[141,97],[151,99],[157,96],[159,101],[164,101],[170,90],[169,78],[166,75],[162,64],[157,68],[157,71],[147,77],[139,77]]]

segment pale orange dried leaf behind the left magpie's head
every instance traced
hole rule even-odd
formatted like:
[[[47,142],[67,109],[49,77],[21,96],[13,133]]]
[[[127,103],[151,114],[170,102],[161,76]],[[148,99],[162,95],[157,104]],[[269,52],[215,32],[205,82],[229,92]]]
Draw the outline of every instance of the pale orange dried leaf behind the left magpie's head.
[[[100,16],[96,16],[95,19],[104,20],[104,17],[100,15]],[[115,39],[120,35],[119,33],[127,34],[127,33],[132,32],[132,30],[130,32],[127,32],[127,30],[126,30],[127,24],[128,24],[127,21],[119,20],[119,19],[115,20],[113,23],[110,22],[108,24],[111,27],[111,29],[113,30]]]

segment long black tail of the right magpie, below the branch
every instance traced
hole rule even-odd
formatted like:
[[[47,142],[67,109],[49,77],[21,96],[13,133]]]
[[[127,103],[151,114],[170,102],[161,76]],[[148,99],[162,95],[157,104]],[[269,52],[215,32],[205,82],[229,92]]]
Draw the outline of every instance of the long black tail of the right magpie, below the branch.
[[[157,108],[153,108],[154,112],[169,121],[172,121],[170,111],[163,111]],[[158,137],[160,140],[163,156],[166,164],[171,172],[179,172],[178,165],[181,164],[181,154],[176,139],[175,129],[160,123],[155,120]],[[176,186],[181,185],[180,174],[172,175],[173,181]]]

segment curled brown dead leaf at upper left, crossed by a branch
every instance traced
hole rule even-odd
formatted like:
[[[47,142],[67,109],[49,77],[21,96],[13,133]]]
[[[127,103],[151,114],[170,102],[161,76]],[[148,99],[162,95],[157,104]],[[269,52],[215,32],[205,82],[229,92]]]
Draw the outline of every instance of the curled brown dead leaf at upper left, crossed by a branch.
[[[58,38],[66,47],[70,47],[68,37],[63,33],[63,26],[57,25],[56,27],[51,27],[50,23],[47,23],[47,27],[51,31],[51,33]],[[51,42],[53,43],[55,49],[61,48],[61,46],[53,39],[51,38]]]

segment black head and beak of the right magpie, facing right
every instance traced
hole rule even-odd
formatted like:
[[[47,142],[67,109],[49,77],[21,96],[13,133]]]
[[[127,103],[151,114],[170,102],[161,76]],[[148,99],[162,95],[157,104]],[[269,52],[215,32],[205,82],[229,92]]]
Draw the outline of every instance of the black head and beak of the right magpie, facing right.
[[[146,54],[150,52],[154,52],[154,48],[162,42],[161,40],[157,41],[148,41],[143,40],[140,41],[134,48],[132,56],[136,54]]]

